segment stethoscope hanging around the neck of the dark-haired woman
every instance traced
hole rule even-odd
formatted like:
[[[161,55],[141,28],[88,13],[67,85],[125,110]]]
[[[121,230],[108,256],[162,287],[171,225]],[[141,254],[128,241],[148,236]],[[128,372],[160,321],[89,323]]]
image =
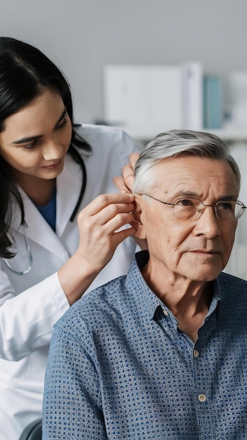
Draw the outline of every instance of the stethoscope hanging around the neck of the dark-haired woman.
[[[74,211],[72,212],[72,215],[70,216],[69,221],[74,221],[74,218],[76,216],[76,213],[79,209],[79,206],[81,205],[81,200],[84,197],[84,193],[86,190],[86,167],[84,164],[84,160],[81,157],[81,155],[79,154],[79,152],[76,150],[76,148],[74,148],[74,145],[71,145],[69,148],[69,153],[70,155],[72,155],[72,157],[74,158],[74,160],[80,164],[81,166],[81,171],[82,171],[82,181],[81,181],[81,190],[79,193],[79,198],[76,202],[76,206],[74,207]],[[26,231],[24,231],[24,237],[25,237],[25,246],[26,246],[26,250],[27,250],[27,259],[28,259],[28,266],[24,271],[16,271],[11,264],[9,263],[8,259],[3,258],[2,260],[4,261],[4,263],[6,264],[6,266],[9,268],[9,270],[13,273],[15,273],[15,275],[26,275],[26,273],[29,273],[29,271],[31,271],[32,269],[32,264],[33,264],[33,259],[32,259],[32,252],[29,246],[29,242],[27,239],[27,234]]]

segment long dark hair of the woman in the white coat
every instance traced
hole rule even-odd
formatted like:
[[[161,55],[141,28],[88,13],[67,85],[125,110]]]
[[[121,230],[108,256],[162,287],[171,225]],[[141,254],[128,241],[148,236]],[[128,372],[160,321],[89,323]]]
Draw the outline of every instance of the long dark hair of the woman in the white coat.
[[[68,153],[81,163],[77,148],[90,152],[91,147],[76,134],[72,96],[67,79],[47,56],[31,44],[9,37],[0,37],[0,133],[7,117],[39,96],[44,87],[58,92],[72,122],[72,141]],[[11,177],[8,163],[0,156],[0,257],[11,258],[8,235],[13,216],[13,202],[20,208],[20,225],[25,224],[21,195]]]

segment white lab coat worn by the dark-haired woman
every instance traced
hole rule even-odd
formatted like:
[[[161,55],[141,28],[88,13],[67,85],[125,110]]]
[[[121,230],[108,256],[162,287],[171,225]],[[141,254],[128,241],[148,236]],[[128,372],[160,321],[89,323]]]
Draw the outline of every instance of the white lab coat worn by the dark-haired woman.
[[[139,147],[120,129],[86,124],[81,135],[93,147],[84,158],[87,185],[81,208],[101,193],[116,192],[112,178],[121,174],[128,155]],[[22,429],[41,416],[44,373],[54,323],[69,304],[57,271],[79,243],[76,219],[69,217],[81,188],[81,167],[67,155],[65,168],[57,179],[56,234],[31,200],[22,193],[27,238],[32,252],[32,269],[26,275],[11,272],[4,261],[0,270],[0,439],[18,440]],[[11,266],[25,271],[29,261],[23,230],[13,221],[17,255]],[[91,288],[126,273],[135,252],[133,238],[117,248],[112,261]]]

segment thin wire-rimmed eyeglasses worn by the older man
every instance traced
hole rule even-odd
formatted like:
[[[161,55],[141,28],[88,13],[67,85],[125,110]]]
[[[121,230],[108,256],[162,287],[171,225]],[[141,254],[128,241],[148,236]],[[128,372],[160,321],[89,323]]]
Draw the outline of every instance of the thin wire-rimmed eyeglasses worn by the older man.
[[[173,214],[177,219],[182,220],[196,220],[203,213],[203,209],[207,206],[211,206],[214,209],[215,216],[218,220],[222,221],[236,221],[243,215],[244,209],[247,207],[243,205],[239,200],[218,200],[215,205],[205,205],[200,199],[196,198],[180,198],[175,200],[174,203],[162,202],[152,195],[147,197],[163,203],[163,205],[171,205],[173,207]]]

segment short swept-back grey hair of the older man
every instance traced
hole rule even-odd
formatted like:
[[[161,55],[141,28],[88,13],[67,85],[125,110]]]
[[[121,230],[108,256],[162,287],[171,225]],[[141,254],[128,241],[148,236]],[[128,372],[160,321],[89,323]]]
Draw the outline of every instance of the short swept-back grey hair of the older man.
[[[196,156],[225,160],[232,168],[239,188],[241,174],[227,144],[214,134],[203,131],[171,130],[155,136],[135,163],[133,193],[147,193],[155,180],[154,166],[166,157]]]

